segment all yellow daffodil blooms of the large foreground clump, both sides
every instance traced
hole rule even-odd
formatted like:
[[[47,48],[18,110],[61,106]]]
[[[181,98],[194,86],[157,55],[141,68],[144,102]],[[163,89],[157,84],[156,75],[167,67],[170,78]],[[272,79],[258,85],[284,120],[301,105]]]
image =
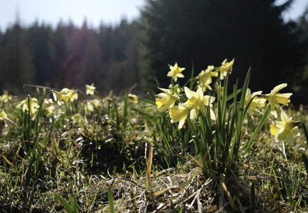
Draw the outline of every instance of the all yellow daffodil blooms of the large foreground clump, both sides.
[[[206,115],[206,109],[209,109],[210,119],[215,120],[213,107],[215,96],[205,95],[204,93],[210,92],[212,85],[215,84],[217,90],[212,91],[211,94],[222,94],[223,87],[220,82],[226,77],[228,72],[231,74],[233,63],[234,58],[232,61],[225,59],[220,67],[215,68],[213,65],[208,65],[206,70],[201,70],[197,77],[190,79],[197,83],[197,90],[191,90],[187,87],[181,88],[179,84],[174,84],[178,77],[184,77],[182,71],[185,68],[180,68],[178,63],[175,63],[174,66],[169,65],[170,71],[167,77],[171,77],[173,81],[171,81],[172,84],[169,86],[169,89],[159,88],[163,93],[156,95],[155,101],[158,111],[168,111],[171,123],[178,123],[178,129],[183,128],[185,120],[190,119],[194,121],[200,113]],[[270,93],[265,95],[262,94],[262,91],[252,92],[247,88],[244,107],[252,117],[255,112],[263,115],[263,109],[266,107],[268,113],[270,112],[275,118],[277,118],[277,111],[281,111],[282,120],[273,122],[270,126],[270,133],[275,136],[275,141],[286,139],[289,145],[293,145],[294,136],[299,135],[298,123],[293,122],[292,118],[288,118],[282,109],[283,106],[288,106],[292,93],[279,93],[286,86],[287,84],[279,84]],[[183,90],[185,93],[180,95],[180,91]],[[266,116],[268,116],[268,113]]]

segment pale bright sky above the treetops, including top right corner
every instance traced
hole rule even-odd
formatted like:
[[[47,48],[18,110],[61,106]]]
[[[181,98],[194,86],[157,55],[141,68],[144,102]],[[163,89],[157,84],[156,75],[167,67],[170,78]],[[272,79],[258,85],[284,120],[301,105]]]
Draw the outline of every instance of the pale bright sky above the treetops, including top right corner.
[[[256,0],[258,1],[258,0]],[[277,0],[277,4],[286,0]],[[296,19],[302,14],[308,0],[295,0],[292,8],[284,14],[285,19]],[[56,26],[60,19],[71,20],[81,26],[86,18],[88,25],[97,27],[100,22],[116,24],[121,17],[128,20],[139,16],[144,0],[0,0],[0,29],[15,22],[17,11],[23,25],[39,22]]]

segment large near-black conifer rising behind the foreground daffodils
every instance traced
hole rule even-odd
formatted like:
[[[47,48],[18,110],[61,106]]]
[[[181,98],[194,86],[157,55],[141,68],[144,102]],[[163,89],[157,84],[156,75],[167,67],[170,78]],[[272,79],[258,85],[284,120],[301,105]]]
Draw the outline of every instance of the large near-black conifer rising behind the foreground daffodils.
[[[147,0],[141,10],[143,67],[147,76],[169,84],[168,64],[176,61],[190,77],[207,65],[235,58],[232,83],[245,79],[252,67],[250,88],[269,92],[289,82],[303,63],[295,23],[284,22],[292,1],[275,0]]]

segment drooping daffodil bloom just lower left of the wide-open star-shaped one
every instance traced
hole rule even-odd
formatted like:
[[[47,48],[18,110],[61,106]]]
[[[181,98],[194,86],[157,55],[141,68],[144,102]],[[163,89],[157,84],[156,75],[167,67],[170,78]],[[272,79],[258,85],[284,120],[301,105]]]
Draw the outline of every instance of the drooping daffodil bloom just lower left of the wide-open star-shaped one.
[[[189,113],[190,107],[188,107],[186,104],[179,104],[178,106],[171,107],[169,111],[171,123],[179,122],[178,129],[181,129]]]

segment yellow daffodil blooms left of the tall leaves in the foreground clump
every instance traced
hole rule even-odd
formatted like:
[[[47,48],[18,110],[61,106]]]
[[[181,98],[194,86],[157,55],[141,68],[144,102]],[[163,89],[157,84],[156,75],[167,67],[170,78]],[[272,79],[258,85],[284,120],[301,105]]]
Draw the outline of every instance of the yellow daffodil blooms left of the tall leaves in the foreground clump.
[[[196,77],[197,90],[190,90],[190,88],[184,87],[181,89],[179,84],[171,84],[169,89],[159,88],[163,93],[156,95],[155,103],[157,105],[158,111],[169,110],[169,116],[171,118],[171,123],[179,123],[178,129],[181,129],[185,123],[185,120],[189,117],[191,120],[196,120],[199,113],[206,113],[206,107],[210,109],[210,118],[215,120],[215,113],[213,110],[213,103],[215,97],[211,95],[204,95],[206,90],[212,90],[211,84],[213,83],[213,78],[218,77],[220,74],[220,79],[224,79],[227,72],[232,71],[233,61],[227,62],[224,60],[220,67],[215,68],[213,65],[209,65],[206,70],[201,70],[199,75]],[[178,78],[184,78],[182,71],[185,68],[180,68],[178,63],[174,66],[169,65],[170,71],[167,73],[167,77],[172,77],[176,82]],[[174,83],[174,82],[173,82]],[[185,96],[180,95],[180,91],[184,90]],[[185,97],[185,102],[181,102]],[[176,105],[176,102],[179,102]]]

